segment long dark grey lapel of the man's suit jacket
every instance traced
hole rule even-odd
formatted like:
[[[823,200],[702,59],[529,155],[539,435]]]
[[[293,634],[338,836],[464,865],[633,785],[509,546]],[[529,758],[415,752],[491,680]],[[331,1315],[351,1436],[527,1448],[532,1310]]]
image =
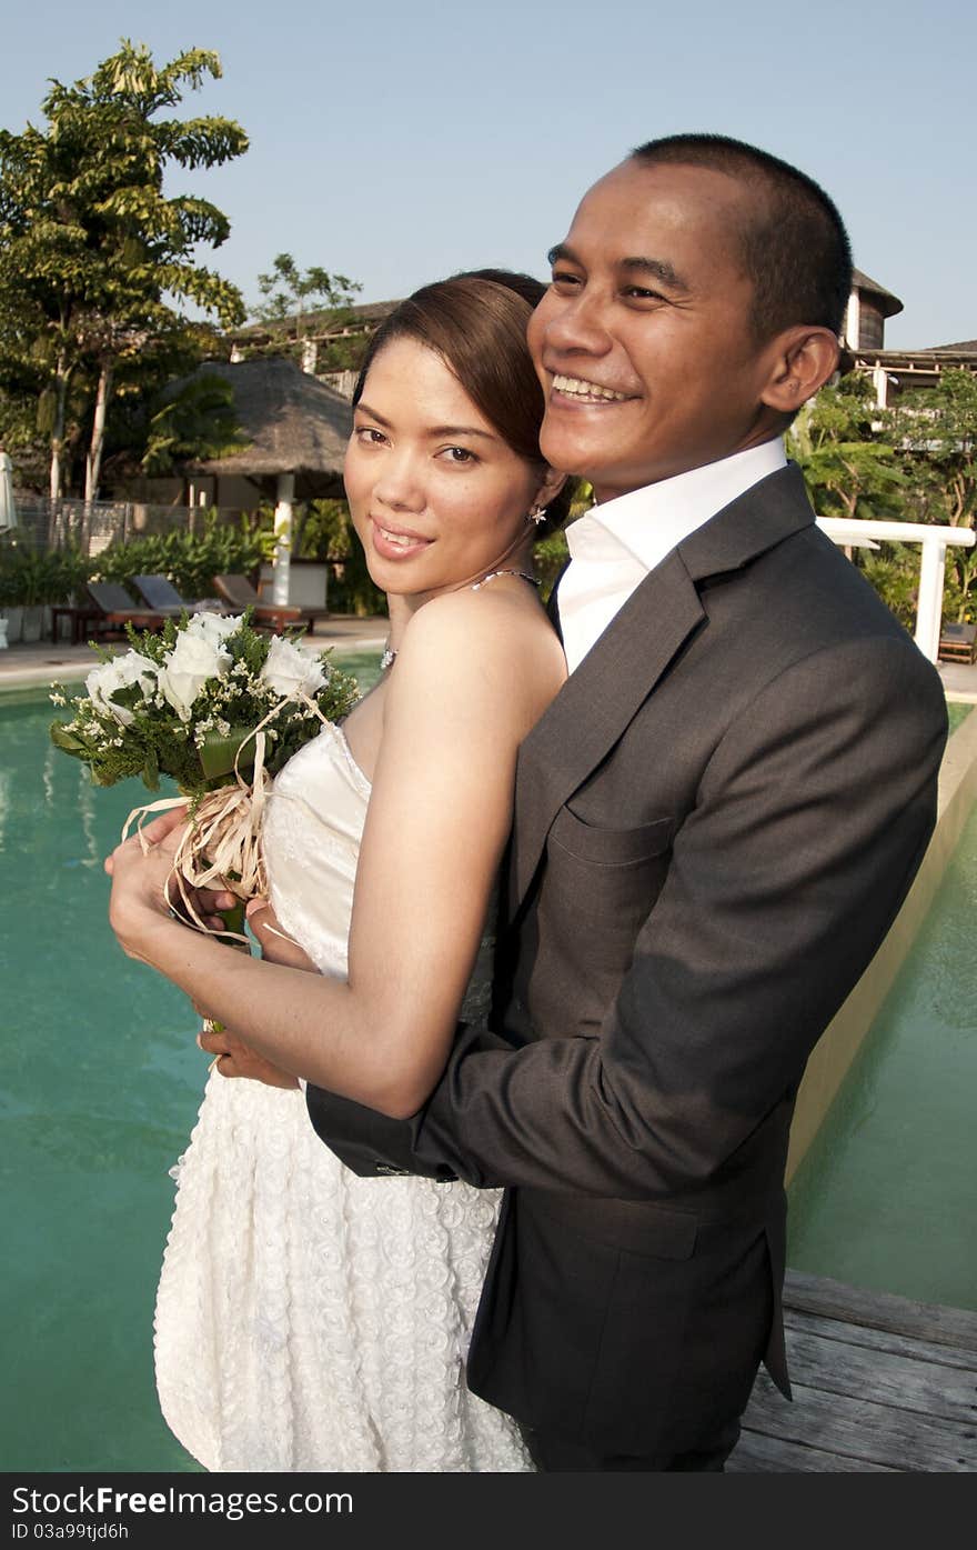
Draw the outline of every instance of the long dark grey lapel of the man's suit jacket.
[[[519,752],[509,908],[522,904],[562,804],[596,769],[704,622],[695,586],[742,570],[759,553],[813,522],[800,471],[760,480],[678,549],[630,595]]]

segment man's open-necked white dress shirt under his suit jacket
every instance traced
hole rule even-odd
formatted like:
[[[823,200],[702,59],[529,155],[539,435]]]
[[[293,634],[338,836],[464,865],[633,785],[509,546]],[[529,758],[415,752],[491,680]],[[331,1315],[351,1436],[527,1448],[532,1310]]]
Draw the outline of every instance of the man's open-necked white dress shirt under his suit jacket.
[[[762,442],[703,468],[595,505],[567,529],[570,564],[557,591],[573,673],[612,618],[677,544],[760,479],[787,467],[783,442]]]

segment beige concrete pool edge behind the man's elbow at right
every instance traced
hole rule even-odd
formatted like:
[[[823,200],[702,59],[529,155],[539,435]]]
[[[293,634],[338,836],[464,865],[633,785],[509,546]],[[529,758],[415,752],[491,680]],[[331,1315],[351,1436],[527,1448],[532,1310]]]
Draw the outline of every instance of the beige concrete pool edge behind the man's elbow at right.
[[[892,922],[886,941],[847,1001],[828,1023],[808,1060],[791,1125],[787,1155],[788,1184],[818,1135],[866,1034],[903,967],[920,925],[929,913],[937,888],[943,882],[943,874],[975,800],[977,710],[972,710],[955,728],[946,746],[940,766],[937,826],[915,882],[906,894],[903,908]]]

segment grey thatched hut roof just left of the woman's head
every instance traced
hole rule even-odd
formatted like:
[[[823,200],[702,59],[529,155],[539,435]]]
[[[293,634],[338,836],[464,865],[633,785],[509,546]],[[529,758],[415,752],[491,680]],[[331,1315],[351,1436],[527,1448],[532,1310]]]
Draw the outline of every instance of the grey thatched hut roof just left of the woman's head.
[[[294,474],[299,501],[342,494],[342,457],[353,428],[345,398],[294,361],[207,361],[194,375],[221,377],[234,389],[234,411],[249,446],[187,467],[207,474],[242,474],[268,494],[279,476]]]

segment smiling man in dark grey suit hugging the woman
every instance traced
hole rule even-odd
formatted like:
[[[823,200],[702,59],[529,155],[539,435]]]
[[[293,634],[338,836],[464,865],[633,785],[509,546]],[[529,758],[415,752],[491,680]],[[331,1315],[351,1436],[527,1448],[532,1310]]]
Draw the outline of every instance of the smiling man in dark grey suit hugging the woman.
[[[407,1125],[308,1108],[356,1172],[509,1186],[468,1381],[542,1469],[718,1471],[760,1361],[790,1393],[794,1097],[926,848],[946,715],[783,457],[850,288],[824,192],[652,141],[551,259],[542,451],[598,505],[519,760],[497,1032]]]

